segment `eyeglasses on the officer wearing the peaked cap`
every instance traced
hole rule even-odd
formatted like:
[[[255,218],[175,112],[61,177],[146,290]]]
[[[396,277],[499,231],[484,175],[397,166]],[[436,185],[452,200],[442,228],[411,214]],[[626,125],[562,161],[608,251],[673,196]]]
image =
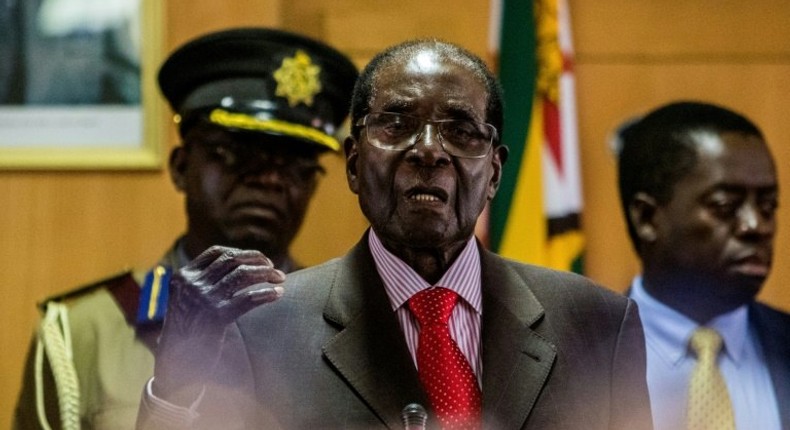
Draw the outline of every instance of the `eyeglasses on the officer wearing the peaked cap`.
[[[309,182],[316,175],[325,173],[317,161],[298,155],[271,152],[255,144],[235,142],[201,142],[208,157],[235,173],[247,173],[254,169],[276,171],[293,182]]]

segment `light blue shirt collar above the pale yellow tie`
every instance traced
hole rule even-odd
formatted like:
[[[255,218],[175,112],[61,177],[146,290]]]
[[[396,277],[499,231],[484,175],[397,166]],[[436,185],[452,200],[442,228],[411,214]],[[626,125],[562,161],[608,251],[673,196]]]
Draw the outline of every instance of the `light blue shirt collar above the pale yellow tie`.
[[[659,355],[677,365],[688,354],[688,342],[699,327],[694,320],[651,296],[637,276],[630,297],[639,305],[639,315],[648,344]],[[748,306],[740,306],[712,319],[706,327],[715,329],[724,342],[724,351],[736,366],[746,353],[748,341]]]

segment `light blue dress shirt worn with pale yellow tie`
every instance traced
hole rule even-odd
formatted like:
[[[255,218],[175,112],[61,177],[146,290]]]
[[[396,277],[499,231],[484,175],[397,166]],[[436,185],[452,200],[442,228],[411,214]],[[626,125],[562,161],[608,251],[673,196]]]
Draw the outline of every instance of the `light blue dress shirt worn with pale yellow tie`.
[[[634,279],[630,297],[639,305],[645,331],[654,430],[685,429],[688,380],[696,364],[688,342],[699,325],[650,296],[641,277]],[[736,428],[781,430],[771,376],[748,313],[744,305],[706,326],[724,340],[718,365],[730,393]]]

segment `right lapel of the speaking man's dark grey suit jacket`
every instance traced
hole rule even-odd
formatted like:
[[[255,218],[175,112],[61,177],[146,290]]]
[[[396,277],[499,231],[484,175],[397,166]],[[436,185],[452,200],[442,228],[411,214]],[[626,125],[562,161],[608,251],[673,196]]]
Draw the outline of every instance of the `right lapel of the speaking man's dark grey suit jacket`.
[[[531,327],[544,311],[523,279],[487,251],[483,285],[483,419],[485,427],[521,428],[556,357]]]

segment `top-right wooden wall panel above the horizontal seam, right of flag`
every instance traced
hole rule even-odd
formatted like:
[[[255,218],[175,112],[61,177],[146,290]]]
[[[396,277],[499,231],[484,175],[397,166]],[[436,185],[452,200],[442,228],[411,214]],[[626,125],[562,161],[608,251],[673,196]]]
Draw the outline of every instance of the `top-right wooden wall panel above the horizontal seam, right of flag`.
[[[570,0],[577,60],[787,62],[785,0]]]

